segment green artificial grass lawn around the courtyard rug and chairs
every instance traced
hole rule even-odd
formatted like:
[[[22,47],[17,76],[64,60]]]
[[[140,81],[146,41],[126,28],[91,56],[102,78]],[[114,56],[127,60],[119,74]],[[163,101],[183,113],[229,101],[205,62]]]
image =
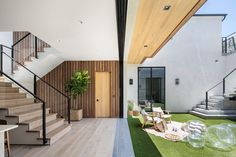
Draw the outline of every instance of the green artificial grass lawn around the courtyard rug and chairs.
[[[173,114],[172,120],[177,122],[201,120],[207,126],[221,123],[236,123],[222,119],[202,119],[190,114]],[[172,142],[148,134],[141,128],[142,117],[132,118],[130,116],[128,117],[128,124],[135,157],[236,157],[236,147],[228,152],[206,146],[201,149],[195,149],[185,142]]]

